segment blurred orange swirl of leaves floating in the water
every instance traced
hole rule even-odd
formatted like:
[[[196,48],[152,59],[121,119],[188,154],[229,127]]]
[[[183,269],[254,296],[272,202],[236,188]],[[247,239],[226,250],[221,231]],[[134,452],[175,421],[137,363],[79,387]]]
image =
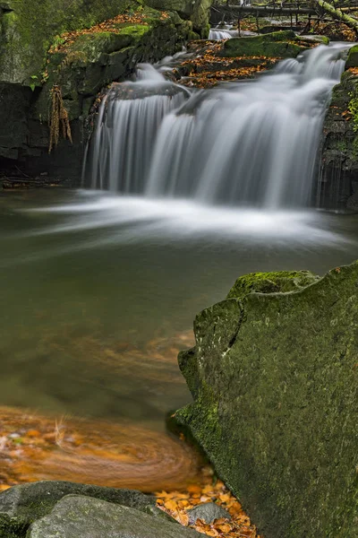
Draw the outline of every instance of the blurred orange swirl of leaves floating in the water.
[[[132,423],[68,419],[0,408],[0,490],[63,480],[142,491],[183,489],[200,457],[183,440]]]

